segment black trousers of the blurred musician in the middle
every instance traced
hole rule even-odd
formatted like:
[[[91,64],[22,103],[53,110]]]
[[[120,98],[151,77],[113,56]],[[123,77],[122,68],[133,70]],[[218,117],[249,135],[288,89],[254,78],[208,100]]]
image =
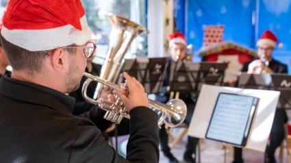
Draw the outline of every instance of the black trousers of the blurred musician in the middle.
[[[189,125],[193,112],[194,112],[195,104],[186,102],[186,105],[187,105],[187,115],[184,122]],[[162,125],[159,131],[159,137],[160,137],[160,145],[161,145],[162,151],[170,152],[170,147],[168,147],[168,134],[166,133],[165,125]],[[186,145],[187,154],[192,154],[192,153],[196,154],[195,149],[196,149],[198,141],[199,141],[199,138],[193,138],[193,137],[188,136],[188,142]]]

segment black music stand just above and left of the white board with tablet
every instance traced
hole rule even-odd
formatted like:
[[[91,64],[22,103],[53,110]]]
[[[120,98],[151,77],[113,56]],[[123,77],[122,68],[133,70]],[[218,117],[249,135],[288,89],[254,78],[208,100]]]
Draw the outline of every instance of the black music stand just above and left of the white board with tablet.
[[[228,63],[173,62],[170,67],[170,92],[194,92],[197,99],[203,84],[223,86]]]

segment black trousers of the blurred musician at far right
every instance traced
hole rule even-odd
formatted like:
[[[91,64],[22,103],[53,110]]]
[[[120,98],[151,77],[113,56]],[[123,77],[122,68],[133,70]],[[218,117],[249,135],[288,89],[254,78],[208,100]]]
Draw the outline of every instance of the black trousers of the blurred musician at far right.
[[[275,163],[275,150],[281,145],[285,138],[284,124],[287,123],[288,118],[285,110],[277,109],[275,112],[275,117],[270,131],[270,143],[266,149],[267,162]],[[234,160],[233,163],[240,163],[242,160],[242,149],[234,147]]]

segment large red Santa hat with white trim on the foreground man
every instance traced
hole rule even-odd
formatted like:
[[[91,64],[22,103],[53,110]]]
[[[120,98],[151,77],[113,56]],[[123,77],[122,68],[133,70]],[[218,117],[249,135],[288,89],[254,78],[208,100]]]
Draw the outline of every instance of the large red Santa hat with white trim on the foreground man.
[[[80,0],[10,0],[3,16],[3,38],[29,51],[44,51],[90,40]]]

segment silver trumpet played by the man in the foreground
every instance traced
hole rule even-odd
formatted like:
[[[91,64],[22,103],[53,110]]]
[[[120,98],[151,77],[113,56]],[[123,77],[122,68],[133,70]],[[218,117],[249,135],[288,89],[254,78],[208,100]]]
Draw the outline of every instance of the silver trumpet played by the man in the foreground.
[[[90,73],[84,73],[83,75],[88,78],[82,87],[82,95],[84,99],[90,103],[93,103],[94,105],[98,105],[99,108],[107,111],[104,116],[106,120],[119,124],[121,123],[123,117],[130,118],[125,105],[123,105],[123,102],[116,95],[114,101],[102,98],[94,100],[87,95],[87,88],[90,82],[93,81],[104,84],[105,86],[108,86],[114,90],[121,91],[125,95],[129,95],[129,92],[126,89],[126,83],[125,86],[119,86],[118,84],[114,84],[101,77],[91,75]],[[149,106],[152,110],[157,110],[157,114],[161,114],[157,122],[159,127],[163,123],[168,127],[175,127],[181,124],[186,118],[187,107],[184,101],[181,99],[172,99],[166,104],[149,99]]]

